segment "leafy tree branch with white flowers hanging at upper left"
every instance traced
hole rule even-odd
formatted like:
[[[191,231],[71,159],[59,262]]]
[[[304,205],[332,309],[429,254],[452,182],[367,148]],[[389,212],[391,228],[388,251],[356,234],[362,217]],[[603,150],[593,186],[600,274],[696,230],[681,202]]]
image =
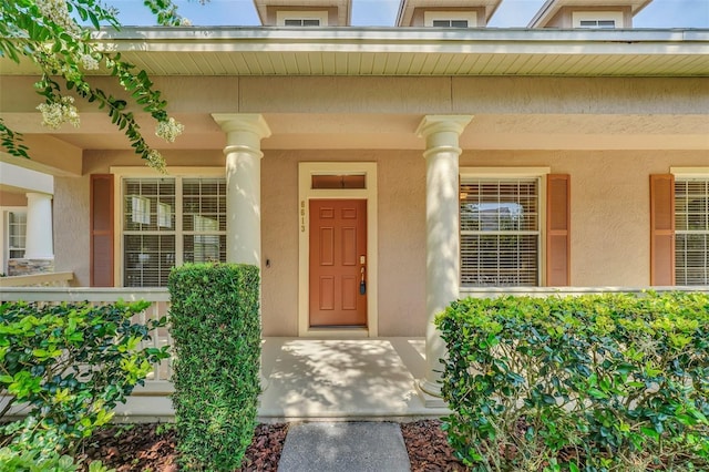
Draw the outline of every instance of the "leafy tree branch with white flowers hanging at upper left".
[[[208,0],[199,0],[205,3]],[[185,24],[172,0],[144,0],[161,24]],[[103,7],[97,0],[12,0],[0,2],[0,55],[17,63],[30,60],[38,66],[41,79],[37,92],[44,98],[38,106],[43,124],[59,129],[63,123],[80,125],[74,96],[95,103],[105,110],[112,123],[123,131],[135,153],[151,167],[165,171],[162,155],[151,148],[141,127],[129,111],[129,101],[106,94],[90,83],[88,71],[101,64],[127,92],[131,103],[138,105],[156,121],[155,134],[168,142],[182,134],[184,126],[167,115],[167,103],[153,89],[145,71],[121,58],[117,52],[97,48],[91,39],[92,28],[80,24],[76,17],[93,29],[102,24],[120,29],[117,11]],[[60,81],[62,82],[60,84]],[[72,95],[68,93],[72,93]],[[0,116],[0,145],[10,154],[29,157],[20,133],[10,130]]]

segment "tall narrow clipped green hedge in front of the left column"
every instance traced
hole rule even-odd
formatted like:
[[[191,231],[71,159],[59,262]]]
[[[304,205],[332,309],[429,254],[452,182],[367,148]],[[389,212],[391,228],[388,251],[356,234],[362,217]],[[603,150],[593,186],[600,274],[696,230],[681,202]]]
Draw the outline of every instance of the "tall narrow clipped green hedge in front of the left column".
[[[188,264],[173,269],[168,288],[183,464],[234,470],[251,442],[260,393],[258,268]]]

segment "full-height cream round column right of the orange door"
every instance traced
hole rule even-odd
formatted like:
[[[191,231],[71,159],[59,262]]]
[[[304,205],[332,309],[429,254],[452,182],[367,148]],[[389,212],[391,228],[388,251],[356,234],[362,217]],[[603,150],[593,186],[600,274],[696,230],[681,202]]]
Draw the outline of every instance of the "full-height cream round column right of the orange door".
[[[445,343],[433,320],[459,297],[459,137],[470,115],[428,115],[417,134],[425,137],[425,359],[427,374],[419,380],[423,393],[441,397],[440,372]],[[439,406],[440,400],[427,401]]]

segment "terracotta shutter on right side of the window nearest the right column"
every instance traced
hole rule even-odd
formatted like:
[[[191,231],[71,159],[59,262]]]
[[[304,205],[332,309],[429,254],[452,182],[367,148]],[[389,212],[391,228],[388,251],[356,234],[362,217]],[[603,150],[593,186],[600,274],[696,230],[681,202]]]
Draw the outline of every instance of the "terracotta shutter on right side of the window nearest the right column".
[[[571,179],[546,176],[546,285],[571,285]]]

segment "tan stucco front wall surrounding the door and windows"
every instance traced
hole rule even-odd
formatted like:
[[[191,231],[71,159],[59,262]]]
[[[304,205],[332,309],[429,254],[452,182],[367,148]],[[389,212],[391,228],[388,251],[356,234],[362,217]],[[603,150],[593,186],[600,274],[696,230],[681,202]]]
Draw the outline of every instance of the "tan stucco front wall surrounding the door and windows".
[[[222,166],[220,152],[166,154],[171,165]],[[261,161],[265,336],[298,332],[298,162],[378,163],[379,335],[422,336],[425,327],[425,163],[414,151],[266,151]],[[706,166],[696,151],[464,151],[461,166],[548,166],[571,174],[572,284],[649,284],[649,175]],[[89,153],[89,173],[141,165],[129,153]],[[89,284],[89,176],[59,177],[54,196],[56,270]],[[370,250],[372,250],[370,248]]]

